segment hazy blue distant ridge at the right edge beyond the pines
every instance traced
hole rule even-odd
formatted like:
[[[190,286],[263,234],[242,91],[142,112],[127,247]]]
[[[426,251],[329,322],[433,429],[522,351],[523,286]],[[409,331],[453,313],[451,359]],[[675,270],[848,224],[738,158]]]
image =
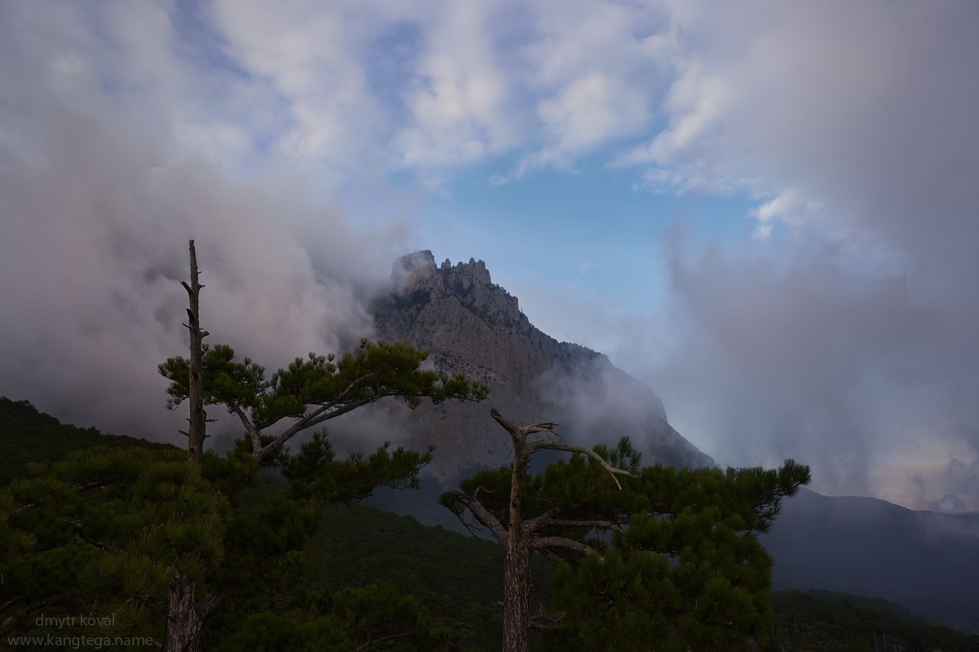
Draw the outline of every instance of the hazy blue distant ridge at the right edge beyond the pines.
[[[803,489],[762,542],[776,588],[883,597],[979,631],[979,516]]]

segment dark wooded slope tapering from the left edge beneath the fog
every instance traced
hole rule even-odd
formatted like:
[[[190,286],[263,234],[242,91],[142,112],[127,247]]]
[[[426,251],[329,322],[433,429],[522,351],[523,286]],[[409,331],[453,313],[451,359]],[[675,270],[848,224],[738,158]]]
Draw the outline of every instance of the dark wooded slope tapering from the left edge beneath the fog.
[[[97,428],[77,428],[38,412],[30,401],[0,396],[0,485],[23,472],[28,462],[50,464],[78,448],[94,445],[168,447],[132,437],[104,435]]]

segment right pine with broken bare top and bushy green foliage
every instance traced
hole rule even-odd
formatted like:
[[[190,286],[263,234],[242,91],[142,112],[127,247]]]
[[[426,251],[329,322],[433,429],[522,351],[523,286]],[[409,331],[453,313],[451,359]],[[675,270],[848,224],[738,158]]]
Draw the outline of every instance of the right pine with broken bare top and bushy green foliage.
[[[513,464],[478,473],[442,502],[503,547],[506,652],[527,650],[530,629],[550,630],[558,649],[602,650],[721,645],[767,630],[771,562],[752,533],[767,530],[782,498],[810,481],[809,467],[640,470],[629,438],[611,449],[532,441],[555,436],[557,424],[491,414],[511,437]],[[528,476],[540,449],[574,454]],[[554,613],[532,617],[535,551],[564,564]]]

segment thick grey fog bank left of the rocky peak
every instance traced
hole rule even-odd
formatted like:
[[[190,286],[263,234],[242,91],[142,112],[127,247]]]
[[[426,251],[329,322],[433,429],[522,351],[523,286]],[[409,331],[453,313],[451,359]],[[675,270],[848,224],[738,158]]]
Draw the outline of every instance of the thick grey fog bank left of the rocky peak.
[[[51,74],[30,33],[5,28],[0,42],[0,395],[176,442],[185,415],[164,410],[156,368],[186,351],[191,238],[208,342],[275,369],[372,335],[363,297],[403,251],[405,223],[358,229],[287,170],[245,178],[182,150],[152,102]]]

